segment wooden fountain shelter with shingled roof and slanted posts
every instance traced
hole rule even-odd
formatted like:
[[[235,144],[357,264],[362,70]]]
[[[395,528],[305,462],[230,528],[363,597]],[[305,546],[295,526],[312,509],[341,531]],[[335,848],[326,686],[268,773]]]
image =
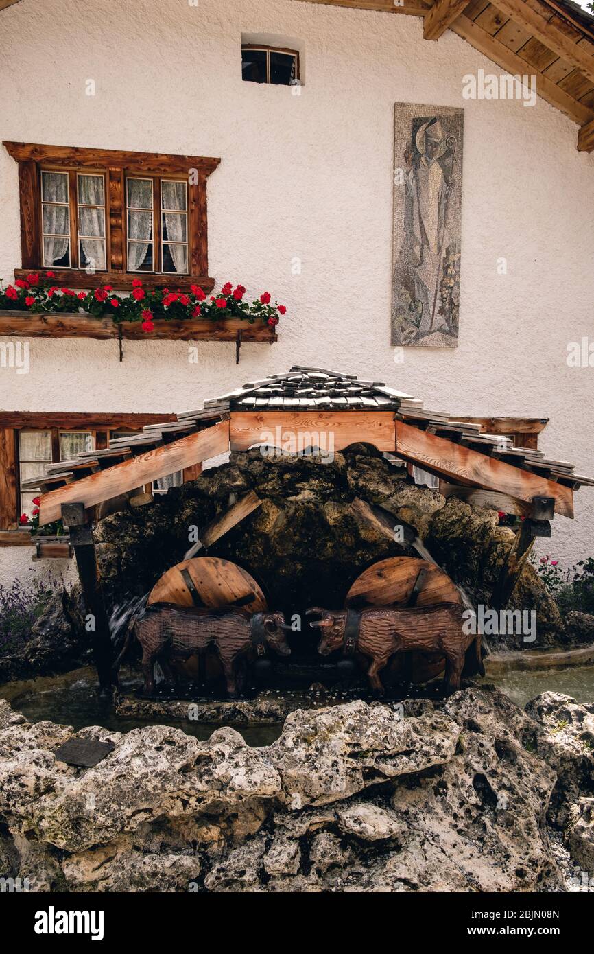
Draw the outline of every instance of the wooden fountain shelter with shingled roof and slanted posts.
[[[492,421],[499,433],[491,433]],[[532,423],[534,430],[538,425]],[[518,427],[518,422],[513,427]],[[197,475],[204,461],[253,446],[291,450],[323,446],[340,450],[368,443],[436,475],[446,496],[524,518],[495,594],[505,605],[534,538],[550,535],[555,513],[573,517],[574,490],[594,485],[572,464],[544,456],[536,446],[517,446],[493,419],[459,420],[429,410],[419,398],[380,381],[294,365],[290,371],[250,381],[204,402],[176,420],[150,424],[142,434],[117,438],[104,450],[85,451],[46,468],[28,482],[40,487],[40,525],[62,520],[70,529],[89,612],[94,617],[95,659],[102,685],[112,679],[112,647],[94,553],[92,522],[99,505],[131,497],[138,488],[177,470]],[[535,442],[524,442],[532,443]],[[287,448],[284,448],[287,449]],[[150,498],[149,498],[150,499]],[[378,517],[364,502],[364,516]],[[251,491],[231,503],[212,525],[200,529],[195,548],[210,546],[260,504]],[[194,555],[191,553],[190,555]]]

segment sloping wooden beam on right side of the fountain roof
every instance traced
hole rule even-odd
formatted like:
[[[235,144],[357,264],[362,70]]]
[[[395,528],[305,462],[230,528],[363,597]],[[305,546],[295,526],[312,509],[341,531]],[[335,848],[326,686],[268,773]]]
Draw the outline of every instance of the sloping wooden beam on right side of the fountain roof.
[[[396,452],[404,460],[448,478],[450,482],[501,491],[526,503],[536,496],[554,497],[555,511],[564,517],[573,517],[573,491],[569,487],[485,457],[476,450],[453,444],[401,421],[396,421],[395,426]]]

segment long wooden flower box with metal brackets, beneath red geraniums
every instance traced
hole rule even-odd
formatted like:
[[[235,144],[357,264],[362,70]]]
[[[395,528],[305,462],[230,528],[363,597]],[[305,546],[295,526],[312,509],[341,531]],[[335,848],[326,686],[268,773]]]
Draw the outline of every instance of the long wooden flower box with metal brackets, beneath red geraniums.
[[[236,363],[243,342],[277,342],[274,326],[263,321],[242,321],[227,318],[223,321],[188,319],[187,321],[153,321],[153,331],[143,331],[141,321],[120,321],[95,318],[86,312],[0,311],[0,337],[17,338],[92,338],[115,339],[119,343],[122,360],[122,340],[177,342],[236,342]]]

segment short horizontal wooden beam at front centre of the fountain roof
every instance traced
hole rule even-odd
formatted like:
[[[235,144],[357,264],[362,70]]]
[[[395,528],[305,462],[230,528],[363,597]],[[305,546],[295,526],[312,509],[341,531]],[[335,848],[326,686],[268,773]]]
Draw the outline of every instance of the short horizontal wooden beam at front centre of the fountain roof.
[[[271,445],[297,453],[318,446],[322,454],[330,454],[359,441],[394,450],[394,412],[239,411],[231,415],[230,440],[232,450]]]

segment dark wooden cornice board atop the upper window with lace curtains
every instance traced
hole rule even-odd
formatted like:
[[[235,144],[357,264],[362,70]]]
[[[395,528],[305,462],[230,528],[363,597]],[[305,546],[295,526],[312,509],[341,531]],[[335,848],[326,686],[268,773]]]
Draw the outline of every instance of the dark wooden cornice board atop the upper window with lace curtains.
[[[207,156],[174,156],[165,153],[133,153],[120,149],[93,149],[82,146],[49,146],[32,142],[3,140],[7,152],[17,162],[59,162],[76,169],[110,166],[126,172],[140,172],[151,176],[185,173],[197,169],[205,176],[215,172],[220,158]]]

